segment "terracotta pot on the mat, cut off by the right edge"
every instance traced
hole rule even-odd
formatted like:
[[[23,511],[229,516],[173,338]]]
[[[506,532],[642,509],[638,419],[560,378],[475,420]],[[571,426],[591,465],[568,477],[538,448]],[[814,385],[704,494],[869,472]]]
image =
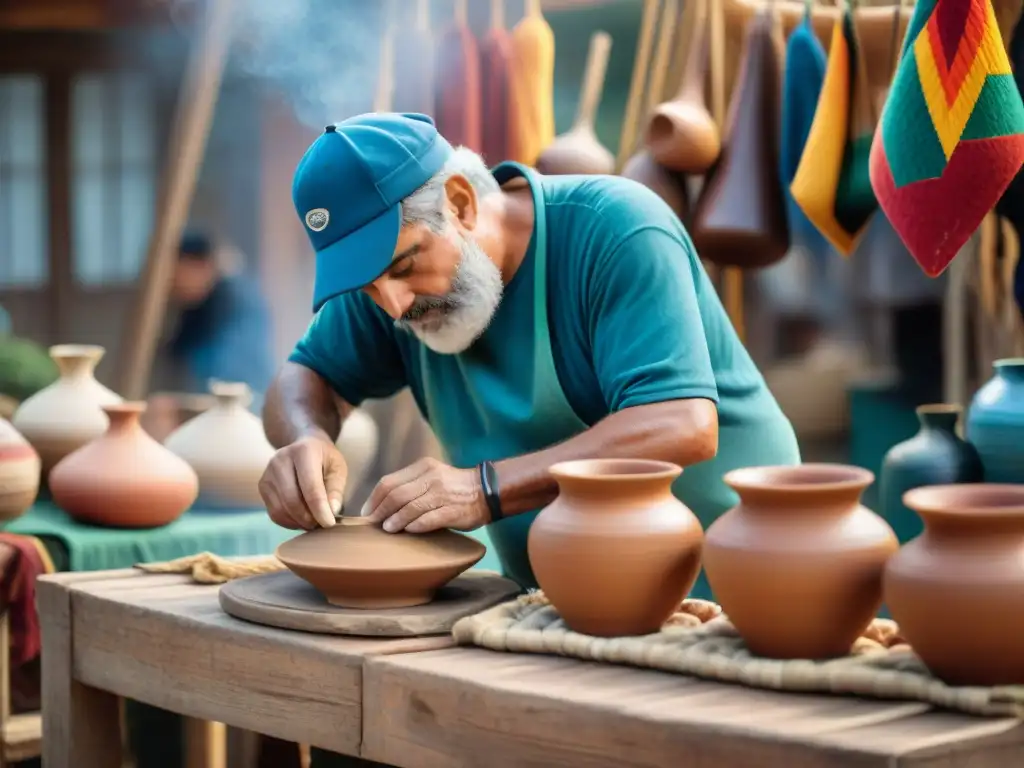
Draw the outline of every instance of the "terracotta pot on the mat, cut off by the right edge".
[[[1024,684],[1024,485],[929,485],[903,503],[925,532],[886,567],[900,634],[951,685]]]

